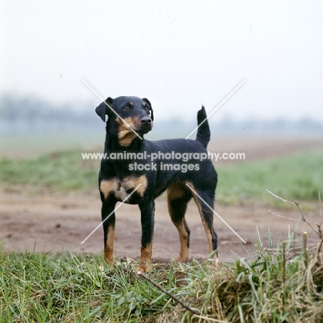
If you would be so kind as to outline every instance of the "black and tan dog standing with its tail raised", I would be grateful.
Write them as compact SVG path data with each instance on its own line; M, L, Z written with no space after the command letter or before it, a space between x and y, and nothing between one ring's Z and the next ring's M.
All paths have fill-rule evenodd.
M213 208L217 173L210 159L199 159L200 154L206 153L211 135L208 121L201 124L206 118L204 107L197 113L197 122L201 126L196 140L144 139L143 136L153 128L154 119L148 99L108 97L95 111L103 121L108 116L104 146L107 157L101 160L99 172L106 262L114 264L115 205L125 201L138 204L141 211L141 259L137 269L150 270L155 198L166 189L168 210L181 243L179 257L175 261L188 260L190 230L184 215L192 197L202 217L209 251L215 251L217 235L213 229L213 211L208 206Z

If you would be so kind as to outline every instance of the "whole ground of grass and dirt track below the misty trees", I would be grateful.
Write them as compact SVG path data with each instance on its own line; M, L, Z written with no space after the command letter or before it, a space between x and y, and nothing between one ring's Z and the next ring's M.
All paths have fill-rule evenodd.
M33 144L37 146L36 141ZM308 224L297 222L300 211L296 206L276 199L265 189L285 199L299 201L309 222L314 227L315 223L320 224L322 215L317 192L323 193L322 139L239 137L218 138L211 143L208 150L213 152L246 154L243 161L215 162L219 174L215 210L246 242L242 243L215 217L220 261L216 268L211 266L212 262L206 261L206 236L193 202L187 213L191 229L190 263L170 262L179 251L179 239L168 216L166 198L161 196L157 199L153 248L155 266L150 277L167 291L202 309L199 315L186 312L133 272L140 252L137 206L124 204L117 212L115 256L118 262L115 269L102 267L105 265L101 260L101 228L81 244L100 223L101 208L97 191L99 161L83 160L81 152L100 152L101 147L95 148L93 143L74 145L68 150L66 147L57 150L58 144L52 147L55 150L47 147L46 153L41 155L37 149L32 154L23 148L3 150L5 154L0 161L0 284L5 288L0 291L0 322L257 322L255 317L258 317L258 322L297 322L297 313L303 313L304 309L289 309L289 305L284 308L280 304L276 309L272 304L277 310L274 318L268 313L261 315L265 302L257 300L256 296L259 297L260 293L260 278L253 281L248 279L248 275L254 273L257 277L266 272L268 280L275 278L281 283L278 276L285 270L279 266L284 255L282 250L275 253L279 261L278 258L270 261L270 273L268 268L255 271L256 267L273 260L269 250L281 247L282 241L291 241L293 251L302 248L304 231L308 231L306 244L313 246L320 242ZM289 287L292 289L297 271L309 271L311 261L313 268L318 266L315 256L306 258L304 252L295 254L295 257L300 257L297 258L302 263L300 268L298 265L288 267L286 263L286 275L291 275ZM261 255L262 261L253 267L251 263L255 264L255 255ZM240 258L242 260L237 264ZM272 274L275 277L271 277ZM246 281L242 277L244 275ZM255 288L252 293L256 293L246 293L246 297L251 297L248 306L244 304L245 299L241 302L235 300L236 303L230 305L230 312L224 308L229 305L221 297L226 295L230 298L233 293L230 286L237 282L237 276L241 278L242 287L249 284ZM297 279L302 280L302 275ZM221 281L228 284L225 291L213 286ZM277 291L273 288L271 293L281 291L283 295L288 292L281 287ZM196 297L193 297L194 291ZM223 295L218 295L217 299L214 291ZM308 292L312 293L311 290ZM316 301L322 308L322 291L317 293ZM199 294L201 296L197 297ZM282 295L280 297L284 298ZM297 294L297 297L301 296ZM310 300L312 295L307 297L309 302L313 302ZM28 303L28 300L32 302ZM231 300L233 302L233 298ZM257 304L253 305L254 300ZM219 304L213 302L223 302L221 315L213 312L219 310ZM314 306L309 315L298 317L303 318L302 322L321 322L319 318L323 313L319 311L320 306ZM173 316L166 315L169 311L173 311ZM306 311L310 310L306 308Z

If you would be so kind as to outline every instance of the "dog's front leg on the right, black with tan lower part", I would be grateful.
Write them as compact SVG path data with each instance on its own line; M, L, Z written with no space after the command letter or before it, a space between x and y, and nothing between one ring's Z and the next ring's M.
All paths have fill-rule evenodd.
M143 199L139 203L141 211L141 257L137 271L150 271L153 254L155 223L155 201Z

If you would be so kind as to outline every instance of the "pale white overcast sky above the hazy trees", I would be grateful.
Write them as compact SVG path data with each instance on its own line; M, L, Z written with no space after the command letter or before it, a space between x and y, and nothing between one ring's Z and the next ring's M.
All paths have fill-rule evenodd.
M246 79L213 120L323 121L322 1L1 1L0 23L0 94L99 104L84 79L195 119Z

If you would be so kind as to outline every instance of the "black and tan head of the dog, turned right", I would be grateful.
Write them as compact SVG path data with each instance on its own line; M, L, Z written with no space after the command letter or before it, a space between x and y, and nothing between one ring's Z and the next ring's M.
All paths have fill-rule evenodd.
M136 133L144 135L153 128L153 108L146 98L117 97L112 99L108 97L106 101L97 106L95 112L104 122L107 115L107 123L117 126L121 146L128 146L137 136Z

